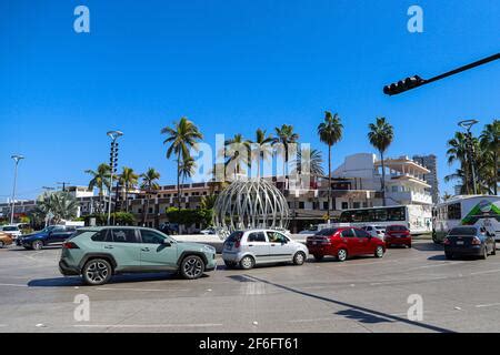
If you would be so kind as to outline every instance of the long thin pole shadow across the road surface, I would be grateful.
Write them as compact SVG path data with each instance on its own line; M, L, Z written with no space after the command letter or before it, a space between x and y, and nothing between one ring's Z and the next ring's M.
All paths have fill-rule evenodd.
M456 332L453 332L451 329L442 328L442 327L439 327L439 326L436 326L436 325L432 325L432 324L426 324L426 323L422 323L422 322L414 322L414 321L410 321L408 318L403 318L403 317L400 317L400 316L387 314L387 313L374 311L374 310L370 310L370 308L367 308L367 307L357 306L354 304L350 304L350 303L347 303L347 302L337 301L337 300L333 300L333 298L328 298L328 297L316 295L316 294L312 294L312 293L309 293L309 292L304 292L304 291L300 291L300 290L292 288L292 287L289 287L289 286L280 285L280 284L277 284L277 283L273 283L273 282L260 278L260 277L256 277L256 276L251 276L251 275L246 275L246 276L249 277L249 278L253 278L253 280L257 280L259 282L263 282L266 284L269 284L269 285L272 285L272 286L286 290L286 291L289 291L289 292L297 293L297 294L306 296L306 297L311 297L311 298L316 298L316 300L319 300L319 301L333 303L333 304L340 305L342 307L351 308L351 310L344 311L344 312L349 312L348 316L349 315L353 316L354 314L352 312L358 312L358 315L359 315L359 313L366 313L366 314L370 314L372 317L380 317L380 318L386 318L386 320L392 320L392 322L401 322L401 323L406 323L406 324L409 324L409 325L418 326L418 327L421 327L421 328L424 328L424 329L428 329L428 331L432 331L432 332L456 333ZM363 317L366 318L366 316L363 316Z

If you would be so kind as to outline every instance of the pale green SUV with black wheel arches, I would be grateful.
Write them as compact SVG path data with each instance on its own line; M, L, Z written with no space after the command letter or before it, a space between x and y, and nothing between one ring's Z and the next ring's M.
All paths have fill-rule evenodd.
M119 273L177 271L193 280L216 264L210 245L178 242L151 229L101 226L79 229L62 244L59 270L102 285Z

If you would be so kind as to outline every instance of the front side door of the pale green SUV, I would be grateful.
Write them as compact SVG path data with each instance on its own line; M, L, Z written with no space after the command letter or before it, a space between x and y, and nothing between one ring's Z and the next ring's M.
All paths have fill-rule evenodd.
M177 243L156 231L140 230L141 268L177 270ZM170 242L166 244L164 241Z

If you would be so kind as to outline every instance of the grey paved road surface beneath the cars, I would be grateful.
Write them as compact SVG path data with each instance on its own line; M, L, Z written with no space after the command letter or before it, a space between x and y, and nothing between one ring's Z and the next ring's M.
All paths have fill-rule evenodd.
M500 256L447 261L416 241L383 258L226 270L186 281L120 275L86 286L60 275L60 248L0 250L0 332L500 332ZM90 300L78 322L76 295ZM421 295L423 320L409 321Z

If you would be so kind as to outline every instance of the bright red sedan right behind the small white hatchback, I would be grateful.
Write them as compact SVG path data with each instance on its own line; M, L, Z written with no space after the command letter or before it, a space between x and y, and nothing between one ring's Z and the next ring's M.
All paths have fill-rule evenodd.
M348 256L372 254L382 257L386 243L372 237L368 232L354 227L326 229L309 236L306 241L309 253L317 261L324 255L333 255L343 262Z

